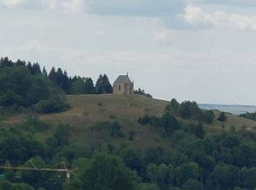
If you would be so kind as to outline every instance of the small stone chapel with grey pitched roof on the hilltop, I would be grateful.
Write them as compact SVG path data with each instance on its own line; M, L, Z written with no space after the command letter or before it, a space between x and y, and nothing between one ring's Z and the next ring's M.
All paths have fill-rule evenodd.
M134 82L127 75L119 75L113 83L113 94L133 94Z

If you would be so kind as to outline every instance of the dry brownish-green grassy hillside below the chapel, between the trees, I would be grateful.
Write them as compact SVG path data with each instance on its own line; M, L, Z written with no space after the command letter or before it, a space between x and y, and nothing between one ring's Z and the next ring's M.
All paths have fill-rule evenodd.
M45 132L37 133L37 137L45 140L53 134L59 123L69 123L71 126L71 142L89 146L108 145L130 145L134 148L149 148L162 146L168 148L171 146L170 140L154 133L148 126L140 126L138 118L145 115L162 115L169 102L150 99L145 96L120 96L113 94L104 95L72 95L67 96L71 108L64 113L55 113L39 115L39 119L49 123L52 127ZM217 118L218 112L215 112ZM26 119L26 114L10 116L1 122L2 127L10 127L22 123ZM124 138L113 138L104 132L94 132L92 126L105 121L117 120L124 132ZM180 121L181 118L179 118ZM193 122L193 121L183 121ZM211 131L222 129L222 122L214 120L214 124L207 126ZM239 118L234 115L227 115L225 129L235 126L240 129L241 126L247 126L247 129L256 129L256 122ZM135 132L135 139L129 140L129 132Z

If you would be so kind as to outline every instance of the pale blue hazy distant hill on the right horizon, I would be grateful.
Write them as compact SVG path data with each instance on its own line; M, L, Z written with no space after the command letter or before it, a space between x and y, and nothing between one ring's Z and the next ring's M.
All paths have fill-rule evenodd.
M242 113L255 113L256 106L254 105L229 105L229 104L198 104L201 109L219 110L222 112L240 115Z

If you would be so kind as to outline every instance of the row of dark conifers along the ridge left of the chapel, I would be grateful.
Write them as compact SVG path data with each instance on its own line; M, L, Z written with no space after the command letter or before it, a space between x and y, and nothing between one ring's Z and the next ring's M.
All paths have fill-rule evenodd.
M53 85L60 88L65 94L111 94L113 92L108 76L105 74L99 75L94 85L91 77L80 77L76 75L70 77L66 70L63 71L61 68L55 69L54 66L48 74L45 66L41 69L37 62L31 64L30 61L26 63L26 61L20 61L20 59L14 62L8 57L1 57L0 59L0 69L18 66L28 69L31 75L48 77Z

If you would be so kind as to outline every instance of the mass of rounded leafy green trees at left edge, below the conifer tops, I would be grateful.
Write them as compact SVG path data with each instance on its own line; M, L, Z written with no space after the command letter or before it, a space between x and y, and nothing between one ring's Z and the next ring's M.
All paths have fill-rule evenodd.
M8 58L0 60L0 106L12 112L37 107L42 113L67 108L62 92L43 75L39 64Z

